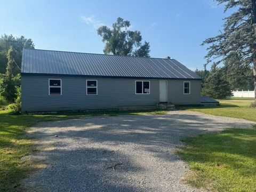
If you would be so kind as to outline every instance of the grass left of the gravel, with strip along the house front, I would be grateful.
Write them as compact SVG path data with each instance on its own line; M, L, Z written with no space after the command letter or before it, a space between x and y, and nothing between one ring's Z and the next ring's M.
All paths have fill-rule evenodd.
M36 169L34 162L22 160L22 157L36 150L33 138L28 138L26 135L28 127L36 122L81 116L137 114L166 114L166 111L102 111L49 115L11 115L9 110L0 110L0 191L15 190L19 186L20 180Z

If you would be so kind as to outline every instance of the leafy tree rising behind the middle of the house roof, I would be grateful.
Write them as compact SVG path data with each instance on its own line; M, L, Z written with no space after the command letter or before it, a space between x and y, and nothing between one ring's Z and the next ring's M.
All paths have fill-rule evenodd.
M102 37L102 42L106 43L103 50L105 54L149 57L149 43L144 42L142 44L140 31L128 30L130 26L130 21L117 18L112 28L107 26L98 28L98 35Z

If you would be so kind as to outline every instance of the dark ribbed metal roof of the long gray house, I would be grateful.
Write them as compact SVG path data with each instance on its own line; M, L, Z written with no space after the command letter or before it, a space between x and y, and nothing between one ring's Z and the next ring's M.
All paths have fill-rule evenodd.
M23 49L22 74L201 79L175 59Z

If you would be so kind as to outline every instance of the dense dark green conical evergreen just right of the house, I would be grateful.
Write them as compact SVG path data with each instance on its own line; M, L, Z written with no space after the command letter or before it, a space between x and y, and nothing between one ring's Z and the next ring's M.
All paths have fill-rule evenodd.
M226 81L223 71L213 65L202 89L202 94L214 99L225 99L233 96L231 86Z

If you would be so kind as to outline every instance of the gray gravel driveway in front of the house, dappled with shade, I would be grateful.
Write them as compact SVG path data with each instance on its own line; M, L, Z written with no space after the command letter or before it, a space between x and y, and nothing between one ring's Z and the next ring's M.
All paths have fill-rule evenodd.
M199 191L182 181L187 165L174 154L180 138L251 124L192 111L38 123L30 134L42 150L30 158L46 167L23 185L34 191Z

